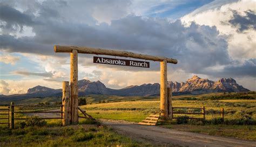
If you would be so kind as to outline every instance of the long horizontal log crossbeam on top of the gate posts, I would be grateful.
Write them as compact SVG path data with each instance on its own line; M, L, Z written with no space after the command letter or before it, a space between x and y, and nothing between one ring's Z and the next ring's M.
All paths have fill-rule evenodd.
M120 56L120 57L140 58L140 59L151 60L151 61L167 61L167 63L173 63L173 64L178 63L178 61L173 58L136 54L136 53L125 52L120 50L109 50L109 49L100 49L100 48L91 48L91 47L54 46L54 51L56 53L71 53L72 50L77 50L78 53L83 53L83 54L111 55L111 56Z

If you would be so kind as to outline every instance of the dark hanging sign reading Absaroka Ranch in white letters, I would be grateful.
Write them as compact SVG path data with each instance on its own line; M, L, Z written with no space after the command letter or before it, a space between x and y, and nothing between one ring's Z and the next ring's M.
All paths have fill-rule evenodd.
M150 68L150 63L145 61L125 60L120 58L107 58L98 56L93 57L93 63Z

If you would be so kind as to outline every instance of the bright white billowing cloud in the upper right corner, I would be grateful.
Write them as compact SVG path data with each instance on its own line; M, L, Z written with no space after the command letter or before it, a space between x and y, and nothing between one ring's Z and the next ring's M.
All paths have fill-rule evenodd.
M218 2L218 3L217 3ZM245 11L256 12L255 1L242 0L233 3L213 2L182 17L187 24L195 21L199 25L216 26L220 35L225 35L228 42L228 52L233 59L256 58L256 31L237 32L237 27L227 24L233 18L233 11L245 15Z

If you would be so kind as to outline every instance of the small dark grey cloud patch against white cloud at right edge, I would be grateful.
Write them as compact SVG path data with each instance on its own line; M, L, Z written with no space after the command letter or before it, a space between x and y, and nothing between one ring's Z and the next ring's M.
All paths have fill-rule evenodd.
M245 16L241 16L237 11L233 11L233 18L228 21L232 26L238 27L238 32L256 30L256 13L252 10L245 11L245 13Z

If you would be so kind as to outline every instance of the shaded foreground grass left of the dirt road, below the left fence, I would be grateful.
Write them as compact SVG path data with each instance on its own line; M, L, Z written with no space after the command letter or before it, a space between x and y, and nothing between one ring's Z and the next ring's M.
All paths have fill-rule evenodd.
M86 122L86 121L85 121ZM51 122L56 123L58 122ZM83 122L80 122L83 123ZM0 146L147 146L99 124L0 129Z

